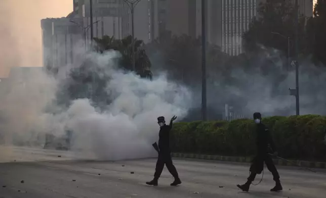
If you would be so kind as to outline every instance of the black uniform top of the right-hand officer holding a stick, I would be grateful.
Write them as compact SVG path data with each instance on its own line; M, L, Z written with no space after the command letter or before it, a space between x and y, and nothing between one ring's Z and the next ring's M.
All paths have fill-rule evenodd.
M270 134L270 131L264 124L261 123L257 125L256 133L256 145L258 155L276 152L276 146L274 144L273 138Z

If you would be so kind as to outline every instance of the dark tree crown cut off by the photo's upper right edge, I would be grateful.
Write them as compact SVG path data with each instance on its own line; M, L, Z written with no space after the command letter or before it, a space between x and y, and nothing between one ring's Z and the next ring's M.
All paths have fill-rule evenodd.
M318 0L315 4L313 17L307 22L308 53L312 54L316 64L326 66L326 1Z

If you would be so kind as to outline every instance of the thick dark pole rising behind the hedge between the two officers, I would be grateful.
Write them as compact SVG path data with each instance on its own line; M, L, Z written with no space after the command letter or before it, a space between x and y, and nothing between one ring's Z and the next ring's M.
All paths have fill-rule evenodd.
M206 0L201 0L201 118L207 121L206 98Z

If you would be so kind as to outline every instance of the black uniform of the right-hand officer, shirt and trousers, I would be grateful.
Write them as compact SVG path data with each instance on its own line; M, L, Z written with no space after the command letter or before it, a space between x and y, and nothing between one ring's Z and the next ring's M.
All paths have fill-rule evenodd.
M276 170L272 157L269 154L276 152L276 147L271 134L268 128L262 123L257 124L256 133L257 155L250 167L251 174L248 180L254 181L256 175L263 171L265 162L267 169L273 174L274 181L279 182L279 174Z

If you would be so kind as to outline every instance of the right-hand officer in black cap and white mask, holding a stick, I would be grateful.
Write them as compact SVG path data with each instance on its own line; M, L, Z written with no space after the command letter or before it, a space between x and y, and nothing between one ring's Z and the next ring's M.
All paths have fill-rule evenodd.
M248 181L243 185L237 186L243 191L249 191L250 184L255 180L256 175L261 174L263 171L265 162L267 169L273 174L273 179L276 182L275 187L270 189L270 191L280 191L282 190L282 185L270 154L270 152L273 152L273 155L277 156L275 144L268 128L262 123L262 116L260 113L254 113L254 121L256 123L257 132L257 155L250 167L250 176L248 177Z

